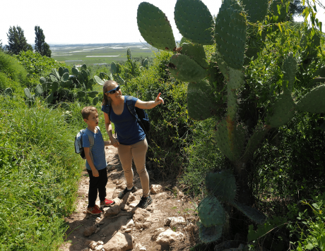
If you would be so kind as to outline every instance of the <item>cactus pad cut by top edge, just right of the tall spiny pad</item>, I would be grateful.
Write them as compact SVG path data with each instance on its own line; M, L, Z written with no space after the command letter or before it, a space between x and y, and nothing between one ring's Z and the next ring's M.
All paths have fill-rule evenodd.
M268 0L242 0L242 6L250 23L263 21L268 12Z

